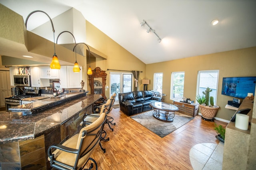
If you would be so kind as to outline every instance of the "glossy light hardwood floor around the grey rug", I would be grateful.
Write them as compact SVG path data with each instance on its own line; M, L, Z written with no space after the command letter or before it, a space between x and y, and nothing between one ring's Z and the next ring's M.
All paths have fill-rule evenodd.
M108 142L101 142L92 154L99 170L192 170L190 149L200 143L215 143L214 123L204 121L201 116L178 128L164 138L143 127L120 109L112 109L109 116L116 125L112 132L104 127ZM216 121L226 127L227 123Z

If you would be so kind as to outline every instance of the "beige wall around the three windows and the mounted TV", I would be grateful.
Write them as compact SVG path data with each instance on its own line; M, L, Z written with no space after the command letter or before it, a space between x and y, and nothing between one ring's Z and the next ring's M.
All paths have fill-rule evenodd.
M256 47L225 51L220 53L188 57L173 61L146 65L146 77L153 81L154 73L163 73L163 92L167 103L170 100L171 73L185 71L184 96L195 101L197 73L202 70L219 70L217 105L220 109L216 117L230 120L234 115L233 110L225 109L232 97L221 94L223 77L256 76ZM149 89L153 89L150 83Z

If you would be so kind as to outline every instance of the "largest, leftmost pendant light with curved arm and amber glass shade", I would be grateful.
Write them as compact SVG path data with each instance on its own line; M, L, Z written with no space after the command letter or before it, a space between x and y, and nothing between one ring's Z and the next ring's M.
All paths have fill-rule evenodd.
M34 14L35 12L42 12L44 14L46 14L46 12L44 11L40 11L40 10L36 10L36 11L33 11L31 12L30 14L28 14L27 18L26 18L26 22L25 22L25 26L27 27L27 23L28 23L28 18ZM53 23L52 23L52 19L50 18L50 16L48 14L46 14L48 16L48 18L50 19L50 22L52 24L52 32L53 32L53 43L54 43L54 54L52 56L52 62L50 64L50 68L51 69L60 69L60 63L59 63L59 60L58 60L58 57L55 53L55 37L54 37L54 33L55 33L55 30L54 30L54 27L53 27Z

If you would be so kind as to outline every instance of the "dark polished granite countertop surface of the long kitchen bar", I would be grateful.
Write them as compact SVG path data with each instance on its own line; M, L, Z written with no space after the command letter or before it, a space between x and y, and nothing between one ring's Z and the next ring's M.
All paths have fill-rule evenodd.
M36 138L59 127L100 98L101 95L87 95L66 102L60 99L61 104L26 116L22 112L0 112L0 143ZM47 99L34 102L33 107L42 102L47 103ZM26 108L29 104L20 106Z

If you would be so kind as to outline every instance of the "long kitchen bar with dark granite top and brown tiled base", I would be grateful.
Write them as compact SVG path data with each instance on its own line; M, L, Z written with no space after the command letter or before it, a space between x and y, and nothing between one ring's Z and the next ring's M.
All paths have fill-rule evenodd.
M16 111L40 108L31 115L0 112L1 168L51 170L47 159L49 146L61 144L80 132L83 116L91 114L94 103L102 99L101 95L84 94L50 97L15 108Z

